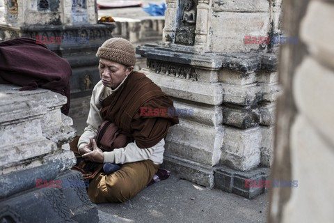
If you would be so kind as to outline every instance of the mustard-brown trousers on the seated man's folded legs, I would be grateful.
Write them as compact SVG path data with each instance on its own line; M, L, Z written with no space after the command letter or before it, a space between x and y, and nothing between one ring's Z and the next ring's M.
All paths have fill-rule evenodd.
M159 166L144 160L123 164L113 174L97 174L89 183L88 196L93 203L125 202L150 183Z

